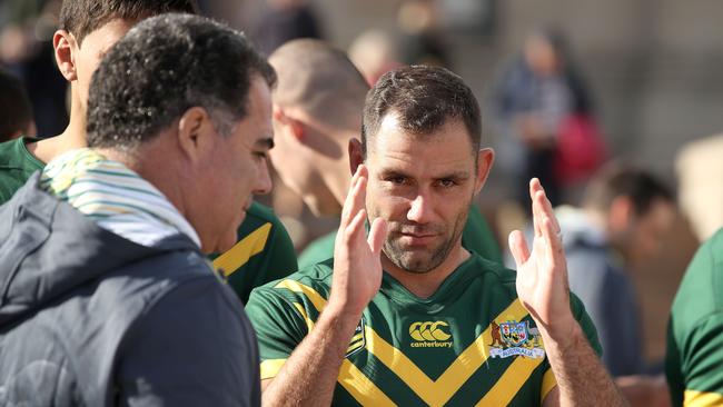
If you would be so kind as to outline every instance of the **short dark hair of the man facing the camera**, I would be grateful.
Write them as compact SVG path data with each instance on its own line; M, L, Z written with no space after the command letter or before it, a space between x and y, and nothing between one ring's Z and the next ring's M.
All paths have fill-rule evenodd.
M369 90L364 106L361 146L379 130L388 113L398 115L402 128L426 136L447 120L462 120L476 157L482 139L479 103L463 79L440 67L410 66L385 73Z

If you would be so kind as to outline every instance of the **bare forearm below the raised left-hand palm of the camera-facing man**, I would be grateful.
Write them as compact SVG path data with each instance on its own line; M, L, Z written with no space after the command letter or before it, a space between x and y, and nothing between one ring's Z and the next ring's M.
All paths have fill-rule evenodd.
M328 406L361 316L327 307L264 390L265 406Z

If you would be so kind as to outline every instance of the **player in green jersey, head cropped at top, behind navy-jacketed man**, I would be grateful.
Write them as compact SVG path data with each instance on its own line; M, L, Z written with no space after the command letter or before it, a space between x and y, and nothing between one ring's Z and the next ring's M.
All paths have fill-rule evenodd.
M86 147L86 105L92 72L101 57L139 20L162 12L194 12L195 2L139 0L66 0L61 29L53 38L56 61L70 82L70 123L62 135L38 140L19 138L0 143L0 205L52 158ZM239 210L241 210L239 208ZM241 301L258 285L296 271L296 252L286 229L260 204L247 211L239 242L217 259Z

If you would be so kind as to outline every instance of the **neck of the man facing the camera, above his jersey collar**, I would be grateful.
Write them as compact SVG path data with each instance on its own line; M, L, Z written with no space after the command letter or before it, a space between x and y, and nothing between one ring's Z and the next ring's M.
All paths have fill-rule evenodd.
M464 249L459 242L437 268L424 274L404 270L392 262L384 254L382 254L382 267L409 292L419 298L429 298L437 292L437 289L447 277L465 262L469 256L469 251Z

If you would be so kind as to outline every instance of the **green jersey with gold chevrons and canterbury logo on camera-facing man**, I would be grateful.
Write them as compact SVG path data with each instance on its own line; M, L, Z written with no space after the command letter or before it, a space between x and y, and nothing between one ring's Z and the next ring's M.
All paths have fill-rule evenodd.
M274 378L326 305L331 260L257 288L246 307ZM336 406L531 406L556 386L515 272L477 255L420 299L388 274L364 310L341 365ZM573 314L600 353L574 297Z

